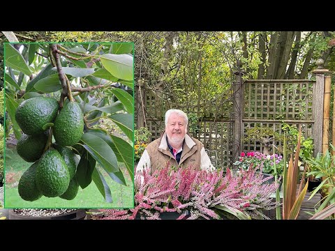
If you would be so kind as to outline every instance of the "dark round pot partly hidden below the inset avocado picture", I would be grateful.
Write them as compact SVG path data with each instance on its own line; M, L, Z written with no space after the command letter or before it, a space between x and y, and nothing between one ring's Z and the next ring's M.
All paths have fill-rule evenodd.
M8 213L8 220L84 220L86 216L85 209L78 209L75 211L71 211L69 213L63 213L61 215L50 215L50 216L26 216L20 215L14 211L14 209L10 209Z

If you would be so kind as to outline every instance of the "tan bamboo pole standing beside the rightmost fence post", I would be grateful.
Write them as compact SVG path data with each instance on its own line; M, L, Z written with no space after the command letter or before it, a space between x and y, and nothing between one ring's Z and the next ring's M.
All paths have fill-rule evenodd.
M322 133L322 153L323 154L327 152L328 145L329 145L329 111L330 111L331 82L332 82L331 77L325 76L325 91L324 91L324 100L323 100L323 133Z

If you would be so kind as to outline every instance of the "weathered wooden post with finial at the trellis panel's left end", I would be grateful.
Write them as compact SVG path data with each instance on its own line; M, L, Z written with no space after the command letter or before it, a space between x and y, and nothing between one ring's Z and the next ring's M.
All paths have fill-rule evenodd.
M241 70L241 61L237 61L237 70L234 71L235 81L233 82L233 136L234 143L232 144L232 161L235 162L239 158L239 154L242 151L243 142L241 142L244 135L244 124L243 124L243 79L245 71Z

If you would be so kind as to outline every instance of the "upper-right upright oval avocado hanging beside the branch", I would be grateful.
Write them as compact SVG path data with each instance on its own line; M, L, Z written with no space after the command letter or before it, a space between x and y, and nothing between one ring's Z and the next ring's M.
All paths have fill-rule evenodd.
M68 102L54 121L54 139L59 146L73 146L80 141L84 130L82 109L76 102Z

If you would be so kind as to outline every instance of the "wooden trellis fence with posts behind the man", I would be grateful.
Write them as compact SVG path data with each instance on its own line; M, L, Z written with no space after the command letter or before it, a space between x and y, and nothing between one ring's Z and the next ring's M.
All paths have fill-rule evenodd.
M322 119L325 74L328 70L314 71L316 81L309 79L244 80L241 71L231 89L214 100L198 97L198 105L176 104L163 93L151 90L144 82L137 82L135 96L135 123L146 126L151 140L161 136L164 115L168 109L182 109L197 119L189 124L191 135L204 147L215 151L219 167L227 167L237 160L241 151L262 151L262 145L245 141L249 128L272 128L282 133L282 123L299 125L305 137L313 137L314 153L322 151ZM202 101L204 100L204 101ZM188 130L190 132L190 130ZM281 142L276 142L281 146Z

